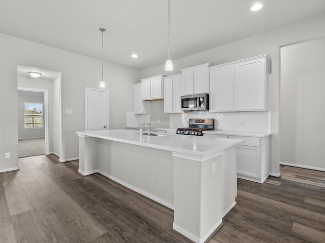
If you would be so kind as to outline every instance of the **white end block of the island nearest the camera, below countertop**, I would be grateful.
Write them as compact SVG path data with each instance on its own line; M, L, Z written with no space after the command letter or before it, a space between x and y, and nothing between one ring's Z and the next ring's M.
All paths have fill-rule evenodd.
M222 162L223 153L203 161L175 156L173 228L194 242L204 242L222 223Z

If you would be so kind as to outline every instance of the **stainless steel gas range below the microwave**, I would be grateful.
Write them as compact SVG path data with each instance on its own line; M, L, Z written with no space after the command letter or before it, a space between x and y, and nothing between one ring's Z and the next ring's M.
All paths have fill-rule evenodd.
M203 136L203 131L214 130L214 119L188 119L188 128L178 128L176 134Z

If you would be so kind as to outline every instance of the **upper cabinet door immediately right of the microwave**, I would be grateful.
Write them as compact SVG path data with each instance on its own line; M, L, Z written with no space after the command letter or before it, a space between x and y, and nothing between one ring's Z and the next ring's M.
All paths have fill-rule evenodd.
M234 109L234 66L210 70L210 111Z

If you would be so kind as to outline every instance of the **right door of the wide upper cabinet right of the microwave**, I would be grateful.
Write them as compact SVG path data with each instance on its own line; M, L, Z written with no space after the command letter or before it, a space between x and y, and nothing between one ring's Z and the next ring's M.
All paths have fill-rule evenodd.
M265 59L235 65L235 110L265 110Z

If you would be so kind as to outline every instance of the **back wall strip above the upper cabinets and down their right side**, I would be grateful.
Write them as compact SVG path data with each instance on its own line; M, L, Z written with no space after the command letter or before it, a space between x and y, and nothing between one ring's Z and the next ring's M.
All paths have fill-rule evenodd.
M165 64L161 64L142 70L141 78L157 74L172 75L180 73L182 68L207 62L217 65L268 53L272 58L269 86L270 110L272 111L270 171L273 175L279 175L280 47L325 35L324 23L325 15L320 15L185 58L173 60L173 53L171 53L174 71L165 71Z

